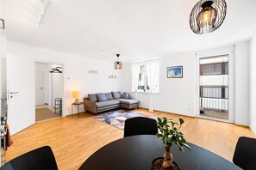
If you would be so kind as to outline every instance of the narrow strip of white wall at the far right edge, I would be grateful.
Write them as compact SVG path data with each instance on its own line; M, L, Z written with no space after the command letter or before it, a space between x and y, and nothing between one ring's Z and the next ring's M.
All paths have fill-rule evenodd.
M256 34L250 42L250 127L256 133Z

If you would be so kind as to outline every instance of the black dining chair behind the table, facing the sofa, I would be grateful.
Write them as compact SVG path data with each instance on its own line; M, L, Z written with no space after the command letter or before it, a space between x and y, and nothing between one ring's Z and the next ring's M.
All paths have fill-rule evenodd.
M158 132L156 120L153 118L128 118L124 123L124 137L135 135L155 135Z

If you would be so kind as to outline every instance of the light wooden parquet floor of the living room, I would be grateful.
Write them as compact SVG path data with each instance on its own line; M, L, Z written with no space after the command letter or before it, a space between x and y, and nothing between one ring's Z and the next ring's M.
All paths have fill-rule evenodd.
M229 161L232 160L238 137L256 137L249 128L235 124L166 112L148 112L145 109L134 111L175 120L184 118L182 132L187 141L209 149ZM15 143L7 150L5 159L9 161L29 150L49 145L60 170L78 169L97 149L123 137L122 130L93 117L92 114L83 113L79 117L74 115L36 123L12 137Z

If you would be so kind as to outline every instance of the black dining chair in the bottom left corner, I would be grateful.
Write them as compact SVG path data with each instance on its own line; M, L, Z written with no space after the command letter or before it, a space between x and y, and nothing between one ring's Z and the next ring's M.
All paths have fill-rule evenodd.
M34 149L7 162L0 170L58 170L49 146Z

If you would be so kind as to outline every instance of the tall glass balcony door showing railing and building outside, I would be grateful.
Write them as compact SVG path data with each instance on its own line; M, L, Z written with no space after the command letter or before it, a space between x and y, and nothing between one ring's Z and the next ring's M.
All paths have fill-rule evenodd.
M228 55L200 58L200 117L227 121Z

